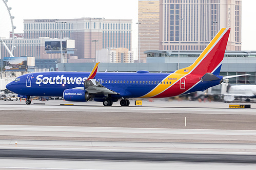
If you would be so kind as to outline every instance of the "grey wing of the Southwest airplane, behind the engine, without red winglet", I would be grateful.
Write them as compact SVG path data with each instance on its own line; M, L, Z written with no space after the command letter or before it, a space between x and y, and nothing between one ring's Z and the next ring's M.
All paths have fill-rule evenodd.
M104 94L118 94L117 92L108 89L101 83L97 82L95 79L90 79L85 81L84 90L89 93L104 93Z

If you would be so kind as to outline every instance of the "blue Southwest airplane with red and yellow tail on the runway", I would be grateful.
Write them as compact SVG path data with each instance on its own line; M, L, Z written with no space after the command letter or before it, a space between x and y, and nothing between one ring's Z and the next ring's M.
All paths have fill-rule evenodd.
M204 91L225 79L219 74L229 33L230 29L221 29L193 64L169 73L97 72L99 63L96 63L91 72L29 73L19 76L6 88L27 98L28 105L30 96L63 96L70 102L93 99L112 106L120 100L121 106L129 106L129 98L169 98Z

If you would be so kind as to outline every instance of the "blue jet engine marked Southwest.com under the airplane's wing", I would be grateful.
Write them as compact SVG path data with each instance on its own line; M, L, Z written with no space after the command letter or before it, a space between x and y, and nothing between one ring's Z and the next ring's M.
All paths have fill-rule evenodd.
M69 102L87 102L90 99L86 90L74 88L64 90L63 98Z

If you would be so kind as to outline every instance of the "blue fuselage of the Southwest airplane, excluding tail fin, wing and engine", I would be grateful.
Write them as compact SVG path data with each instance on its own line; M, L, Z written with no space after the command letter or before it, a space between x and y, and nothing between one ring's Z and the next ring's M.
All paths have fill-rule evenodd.
M6 88L17 94L27 96L63 96L63 92L66 89L83 88L84 81L88 78L89 74L90 72L33 72L18 77L15 81L9 83ZM118 93L111 94L112 98L117 99L144 97L144 95L152 90L157 91L157 89L160 89L159 94L161 93L161 95L146 95L145 97L171 97L205 90L211 86L220 84L220 80L222 79L219 76L220 80L201 82L200 77L187 75L187 85L185 85L185 81L182 85L177 80L173 84L174 80L173 82L171 81L172 78L169 78L170 75L171 73L149 73L143 71L141 73L97 72L94 79L106 88ZM168 82L165 82L167 77ZM159 86L160 84L163 87ZM177 93L178 91L180 92Z

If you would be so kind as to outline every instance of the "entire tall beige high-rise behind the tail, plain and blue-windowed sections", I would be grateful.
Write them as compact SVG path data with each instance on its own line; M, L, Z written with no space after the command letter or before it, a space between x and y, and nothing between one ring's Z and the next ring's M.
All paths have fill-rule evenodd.
M139 0L142 62L147 50L202 51L221 28L231 28L227 50L241 51L241 6L242 0Z

